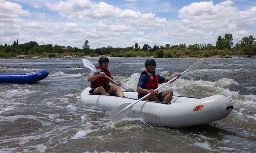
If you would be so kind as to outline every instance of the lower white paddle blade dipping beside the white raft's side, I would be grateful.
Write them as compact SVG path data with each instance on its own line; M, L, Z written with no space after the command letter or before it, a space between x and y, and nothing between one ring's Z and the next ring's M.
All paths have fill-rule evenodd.
M130 103L124 103L110 111L110 119L112 122L116 122L126 117L132 109L132 106L125 109Z

